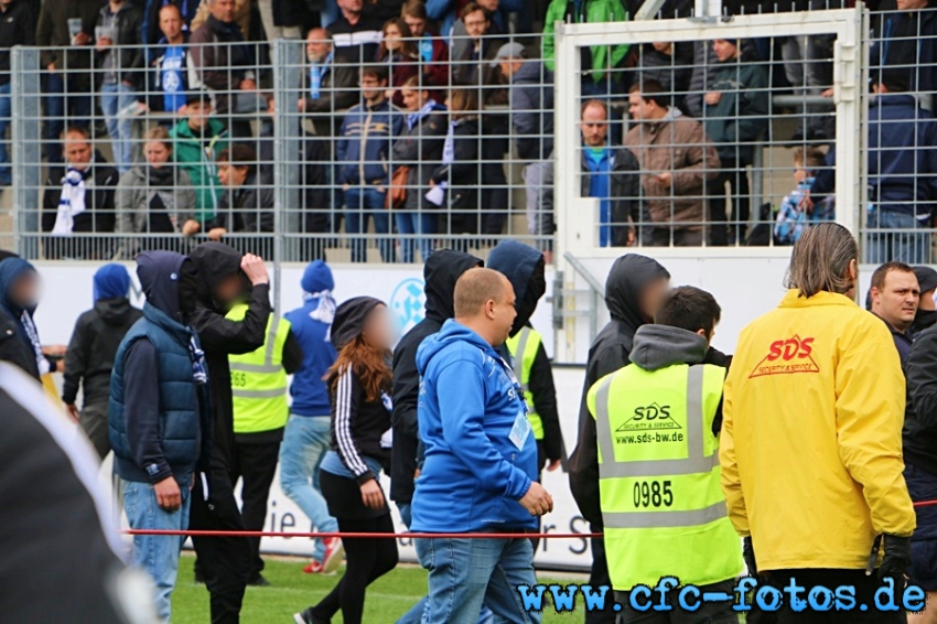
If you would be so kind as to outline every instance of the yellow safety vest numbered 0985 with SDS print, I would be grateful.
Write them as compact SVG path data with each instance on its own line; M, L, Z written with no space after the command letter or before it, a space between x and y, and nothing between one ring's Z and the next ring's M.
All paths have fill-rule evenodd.
M712 433L724 377L712 365L648 372L632 364L589 390L615 590L670 575L710 584L742 572Z

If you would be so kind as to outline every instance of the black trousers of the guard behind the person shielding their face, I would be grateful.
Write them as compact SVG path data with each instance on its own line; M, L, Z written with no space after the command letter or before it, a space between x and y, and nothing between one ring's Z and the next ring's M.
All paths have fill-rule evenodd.
M263 530L267 499L270 497L270 485L277 473L279 456L280 442L235 444L231 480L234 483L237 483L238 478L244 480L240 491L240 517L247 530ZM250 545L250 571L247 580L251 582L263 570L263 559L260 558L260 538L248 537L246 541Z

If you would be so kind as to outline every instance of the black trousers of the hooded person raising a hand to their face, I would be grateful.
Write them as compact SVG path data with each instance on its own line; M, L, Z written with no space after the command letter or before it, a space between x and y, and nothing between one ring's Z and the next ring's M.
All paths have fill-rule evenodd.
M203 477L208 480L207 501ZM189 528L244 530L234 478L227 470L213 466L211 475L195 475ZM212 624L238 624L250 570L250 545L243 537L193 537L192 542L212 596Z

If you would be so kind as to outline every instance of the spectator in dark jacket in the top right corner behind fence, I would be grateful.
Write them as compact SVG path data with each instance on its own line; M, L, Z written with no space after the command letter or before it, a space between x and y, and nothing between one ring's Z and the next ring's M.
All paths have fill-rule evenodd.
M881 41L869 53L873 68L907 74L907 92L920 107L935 112L937 92L937 2L897 0L897 11L884 13Z

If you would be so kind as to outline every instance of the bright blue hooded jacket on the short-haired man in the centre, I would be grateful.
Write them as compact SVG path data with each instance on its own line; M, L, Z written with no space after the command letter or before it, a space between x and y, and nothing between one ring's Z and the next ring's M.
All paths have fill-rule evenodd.
M413 531L532 529L518 501L537 478L537 442L509 434L526 417L520 386L478 334L449 320L417 351L418 419L426 462L413 494Z

